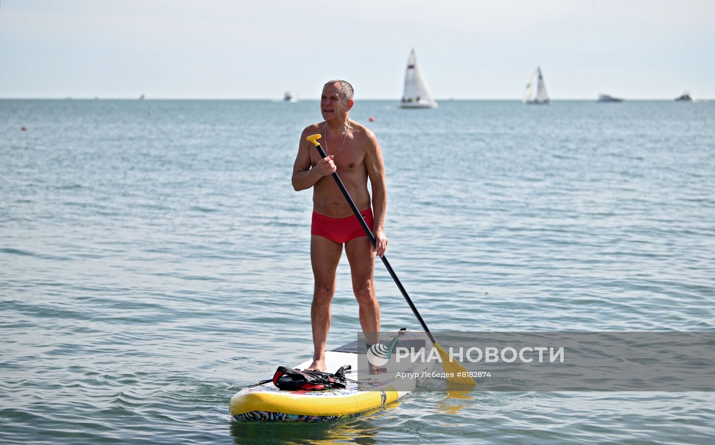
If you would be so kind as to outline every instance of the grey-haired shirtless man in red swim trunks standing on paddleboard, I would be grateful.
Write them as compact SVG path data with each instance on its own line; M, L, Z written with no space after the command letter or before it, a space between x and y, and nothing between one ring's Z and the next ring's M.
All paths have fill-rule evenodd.
M372 131L350 120L352 85L343 80L327 82L322 89L320 112L325 119L303 130L298 154L293 164L292 184L296 191L313 189L313 213L310 228L310 261L315 290L310 309L312 322L313 362L307 369L325 371L325 343L330 329L330 301L335 294L335 271L345 254L350 263L352 291L360 306L360 325L370 344L379 341L380 305L375 296L375 253L383 256L388 246L385 237L385 164L380 144ZM305 138L322 135L322 146L328 155L321 158ZM376 245L363 231L357 216L330 175L337 171L345 188L360 209L375 235ZM373 192L370 198L368 179ZM385 369L371 369L384 372Z

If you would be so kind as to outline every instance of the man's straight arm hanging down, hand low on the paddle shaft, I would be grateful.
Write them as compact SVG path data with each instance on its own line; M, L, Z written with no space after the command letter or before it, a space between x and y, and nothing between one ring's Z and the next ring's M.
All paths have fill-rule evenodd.
M373 234L375 235L375 251L383 256L388 248L388 238L385 236L385 211L388 208L388 190L385 186L385 161L380 149L378 138L368 130L368 149L365 152L365 167L373 188Z

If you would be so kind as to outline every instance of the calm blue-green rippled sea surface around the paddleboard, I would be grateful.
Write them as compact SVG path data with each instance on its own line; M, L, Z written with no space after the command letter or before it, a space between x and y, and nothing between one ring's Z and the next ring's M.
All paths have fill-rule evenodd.
M715 102L351 117L383 147L388 257L434 331L715 329ZM318 120L317 101L0 101L0 442L712 443L698 392L233 423L232 394L312 354L311 191L290 176ZM383 330L418 330L376 280ZM352 341L345 258L332 313L328 346Z

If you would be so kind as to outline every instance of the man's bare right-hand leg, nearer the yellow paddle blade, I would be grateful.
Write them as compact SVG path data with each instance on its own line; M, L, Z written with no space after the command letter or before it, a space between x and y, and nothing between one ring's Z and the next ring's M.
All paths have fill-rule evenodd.
M380 305L375 296L375 252L367 236L351 239L345 243L345 254L350 261L352 291L360 305L360 326L363 326L365 341L375 344L380 341ZM374 373L385 369L372 369Z

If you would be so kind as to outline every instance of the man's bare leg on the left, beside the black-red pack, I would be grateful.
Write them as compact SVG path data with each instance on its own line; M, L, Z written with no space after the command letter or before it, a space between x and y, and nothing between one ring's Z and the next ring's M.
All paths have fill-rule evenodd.
M313 333L313 362L307 369L325 371L325 343L330 329L330 301L335 295L335 269L342 255L342 244L323 236L310 236L310 262L315 289L310 306Z

